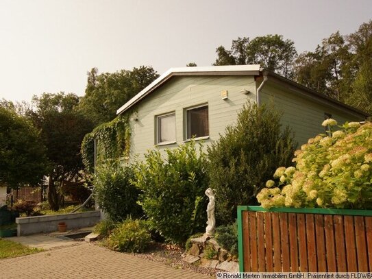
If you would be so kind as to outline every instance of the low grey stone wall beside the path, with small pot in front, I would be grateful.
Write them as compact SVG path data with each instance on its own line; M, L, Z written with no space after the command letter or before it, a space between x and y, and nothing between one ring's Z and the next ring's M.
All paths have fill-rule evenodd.
M38 232L54 232L58 230L58 223L65 222L67 230L94 226L99 222L99 211L84 213L69 213L59 215L45 215L16 218L17 235L36 234Z

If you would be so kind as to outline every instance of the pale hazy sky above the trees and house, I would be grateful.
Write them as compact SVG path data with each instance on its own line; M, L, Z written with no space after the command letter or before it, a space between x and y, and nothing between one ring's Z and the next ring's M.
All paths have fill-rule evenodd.
M313 51L371 19L371 0L0 0L0 99L83 96L93 67L210 66L239 36L280 34Z

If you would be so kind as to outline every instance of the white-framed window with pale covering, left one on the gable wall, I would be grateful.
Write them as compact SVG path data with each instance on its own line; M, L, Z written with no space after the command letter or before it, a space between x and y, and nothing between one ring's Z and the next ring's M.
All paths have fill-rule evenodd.
M175 143L175 112L156 117L156 144Z

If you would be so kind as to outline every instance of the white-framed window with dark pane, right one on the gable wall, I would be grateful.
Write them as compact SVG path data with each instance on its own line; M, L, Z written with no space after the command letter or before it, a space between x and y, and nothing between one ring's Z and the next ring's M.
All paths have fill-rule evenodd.
M186 108L186 140L209 136L208 105Z

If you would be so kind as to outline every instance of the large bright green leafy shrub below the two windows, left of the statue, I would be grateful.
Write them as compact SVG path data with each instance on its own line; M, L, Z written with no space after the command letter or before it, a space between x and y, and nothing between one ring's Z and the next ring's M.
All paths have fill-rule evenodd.
M134 184L142 191L140 205L151 228L173 243L184 244L188 236L206 226L208 187L206 155L191 141L177 149L149 151L136 165Z

